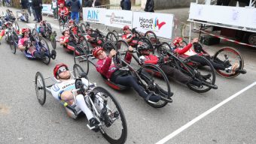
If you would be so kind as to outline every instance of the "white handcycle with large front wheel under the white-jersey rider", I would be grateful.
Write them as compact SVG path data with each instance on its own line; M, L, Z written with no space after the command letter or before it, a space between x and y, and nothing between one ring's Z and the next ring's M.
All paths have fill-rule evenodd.
M87 127L90 130L95 128L99 130L111 144L123 144L127 137L126 118L114 96L102 87L96 86L95 83L90 83L87 74L78 64L73 66L72 77L75 79L75 89L72 90L74 99L76 98L74 93L81 92L93 117L99 121L97 127L90 127L89 124ZM88 80L86 85L83 83L85 79ZM49 84L46 83L47 81L50 81ZM35 74L35 92L42 106L45 104L47 93L51 94L50 89L55 83L59 82L54 77L44 78L39 71ZM83 114L79 107L76 107L76 99L74 106L70 106L66 101L60 101L60 104L70 111L72 118L77 119Z

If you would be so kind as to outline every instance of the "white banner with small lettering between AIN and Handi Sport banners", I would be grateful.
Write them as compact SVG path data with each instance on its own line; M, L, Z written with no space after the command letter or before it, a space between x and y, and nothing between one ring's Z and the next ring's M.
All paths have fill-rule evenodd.
M133 26L133 11L131 10L105 10L105 26L123 28L123 26Z

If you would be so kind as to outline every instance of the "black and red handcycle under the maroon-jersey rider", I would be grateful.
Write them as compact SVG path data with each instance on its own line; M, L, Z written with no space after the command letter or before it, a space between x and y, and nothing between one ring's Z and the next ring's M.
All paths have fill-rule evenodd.
M172 92L169 86L169 81L166 75L163 73L163 71L160 70L160 68L151 64L139 65L139 68L135 68L124 60L123 52L121 52L120 49L117 49L114 43L112 43L111 41L106 41L103 45L103 49L105 49L105 51L109 51L111 50L110 48L114 48L117 50L117 55L114 56L113 62L114 65L116 65L116 67L120 69L120 71L128 71L128 73L136 77L137 82L139 83L140 86L142 86L145 92L153 93L154 95L159 95L161 97L161 100L155 103L146 101L151 107L165 107L166 104L168 104L168 102L163 101L163 99L169 99L172 101L172 99L170 98L172 96ZM95 65L94 60L96 58L94 58L92 54L79 56L77 58L77 62L79 62L79 64L81 65L84 65L86 71L89 71L89 62ZM134 54L133 58L139 64L139 58L137 58L136 55ZM154 73L152 72L152 70L154 70L154 73L157 73L160 77L163 77L163 79L156 79L156 77L154 77ZM129 89L127 86L122 86L120 84L111 82L111 80L108 80L104 76L102 76L102 78L105 81L105 83L112 89Z

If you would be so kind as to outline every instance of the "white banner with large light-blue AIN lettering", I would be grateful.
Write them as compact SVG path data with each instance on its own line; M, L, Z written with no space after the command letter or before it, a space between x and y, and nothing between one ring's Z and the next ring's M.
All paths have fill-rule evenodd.
M83 7L83 20L90 23L105 24L105 8Z

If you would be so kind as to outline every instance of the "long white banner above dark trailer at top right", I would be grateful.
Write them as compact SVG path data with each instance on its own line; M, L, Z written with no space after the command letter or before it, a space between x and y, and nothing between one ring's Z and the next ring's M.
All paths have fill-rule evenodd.
M255 8L190 4L190 20L256 28Z

